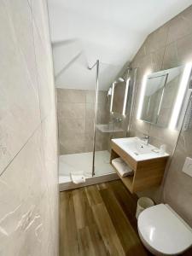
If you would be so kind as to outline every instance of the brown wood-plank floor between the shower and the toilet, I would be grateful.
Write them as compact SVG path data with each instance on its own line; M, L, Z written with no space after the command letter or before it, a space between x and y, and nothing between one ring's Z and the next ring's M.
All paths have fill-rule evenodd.
M137 197L113 181L60 193L60 256L151 255L137 235Z

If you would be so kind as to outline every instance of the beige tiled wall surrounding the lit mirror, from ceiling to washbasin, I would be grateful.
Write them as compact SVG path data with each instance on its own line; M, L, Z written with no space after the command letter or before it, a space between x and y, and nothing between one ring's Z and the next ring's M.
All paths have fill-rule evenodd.
M141 47L142 49L139 49L137 55L131 61L132 67L138 67L136 105L131 122L131 134L139 134L142 131L144 133L147 132L151 140L155 139L154 141L158 141L160 144L167 143L168 139L167 147L170 148L171 152L177 142L177 132L173 133L168 129L157 128L154 125L148 125L143 121L137 120L137 108L143 84L143 75L148 70L155 72L160 69L177 67L186 63L186 61L192 61L190 45L192 32L191 28L189 29L189 26L191 27L191 14L192 7L190 6L183 13L148 35ZM177 27L180 26L184 27L182 35L177 34L179 33L177 32ZM145 54L140 55L141 51Z

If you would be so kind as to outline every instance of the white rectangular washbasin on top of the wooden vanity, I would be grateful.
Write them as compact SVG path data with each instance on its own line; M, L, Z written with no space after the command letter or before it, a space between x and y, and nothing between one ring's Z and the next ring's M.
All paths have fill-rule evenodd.
M122 148L137 161L169 156L169 154L160 153L160 149L155 148L153 145L146 145L143 140L138 137L117 138L112 139L112 142L117 144L119 148Z

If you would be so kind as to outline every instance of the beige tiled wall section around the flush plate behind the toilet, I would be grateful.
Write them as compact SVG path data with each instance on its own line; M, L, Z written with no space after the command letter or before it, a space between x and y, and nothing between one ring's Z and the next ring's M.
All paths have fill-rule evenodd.
M192 119L192 116L190 116ZM167 172L164 199L192 226L192 177L182 172L186 157L192 158L192 126L179 136L172 163Z

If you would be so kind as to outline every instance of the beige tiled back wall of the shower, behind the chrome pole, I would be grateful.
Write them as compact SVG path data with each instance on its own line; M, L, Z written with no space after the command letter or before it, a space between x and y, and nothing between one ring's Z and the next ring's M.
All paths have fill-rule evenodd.
M93 150L95 90L57 89L60 154ZM107 91L98 93L97 123L108 123ZM96 150L108 148L108 133L96 131Z

